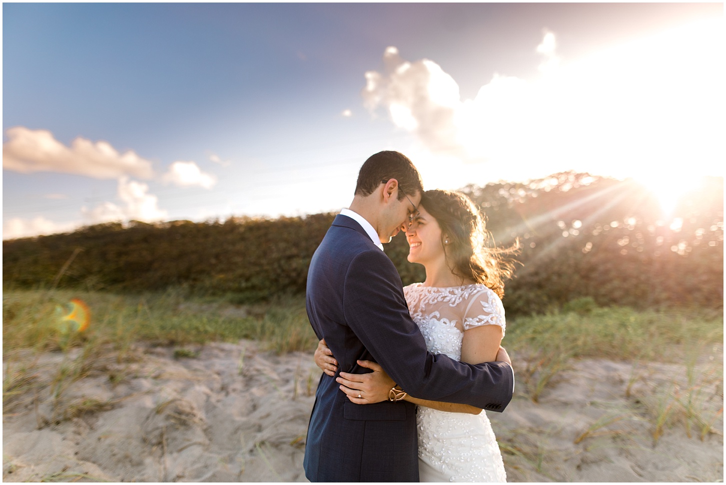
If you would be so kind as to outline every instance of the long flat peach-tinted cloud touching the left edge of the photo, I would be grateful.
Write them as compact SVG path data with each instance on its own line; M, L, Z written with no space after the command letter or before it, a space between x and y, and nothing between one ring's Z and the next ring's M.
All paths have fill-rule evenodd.
M78 137L69 146L57 141L48 130L15 126L6 131L3 168L20 173L60 172L92 178L132 175L151 178L151 162L131 150L119 153L107 141L92 142Z

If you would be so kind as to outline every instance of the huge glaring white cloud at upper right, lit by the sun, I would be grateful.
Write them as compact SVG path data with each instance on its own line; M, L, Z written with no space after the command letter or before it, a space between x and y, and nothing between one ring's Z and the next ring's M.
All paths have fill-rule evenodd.
M439 159L488 180L560 170L637 176L689 160L713 172L726 155L723 39L722 22L701 22L566 62L546 32L539 78L495 74L474 99L461 99L436 62L409 62L389 47L385 70L365 73L362 98Z

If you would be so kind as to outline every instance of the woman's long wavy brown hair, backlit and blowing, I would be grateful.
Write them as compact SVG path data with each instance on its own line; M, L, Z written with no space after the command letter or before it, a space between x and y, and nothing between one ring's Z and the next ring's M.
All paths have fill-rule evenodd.
M512 278L516 262L506 255L518 252L519 241L509 248L489 247L484 215L460 192L425 191L421 205L439 223L446 265L452 273L484 284L499 298L504 297L504 280Z

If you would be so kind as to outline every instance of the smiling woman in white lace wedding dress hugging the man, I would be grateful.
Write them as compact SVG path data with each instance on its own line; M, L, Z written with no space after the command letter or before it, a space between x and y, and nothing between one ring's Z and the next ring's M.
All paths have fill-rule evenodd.
M423 194L420 212L406 232L409 262L426 270L423 283L404 288L411 317L428 350L470 364L496 360L505 334L503 278L511 262L501 255L513 249L488 249L480 212L464 194L432 190ZM320 341L315 362L329 376L337 361ZM337 381L348 399L366 394L365 402L388 399L396 386L375 362L359 361L374 370L367 381L340 373ZM372 376L372 377L371 377ZM405 389L403 389L405 391ZM418 405L420 481L507 481L497 439L486 412L477 407L407 396Z

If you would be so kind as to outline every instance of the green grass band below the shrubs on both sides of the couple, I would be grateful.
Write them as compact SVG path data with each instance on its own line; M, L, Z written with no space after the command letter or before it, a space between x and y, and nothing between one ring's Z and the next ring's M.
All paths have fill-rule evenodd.
M64 331L59 326L59 315L71 299L81 299L89 308L91 321L84 331ZM140 341L172 346L178 358L195 357L197 351L189 347L208 341L251 339L277 354L307 352L316 347L303 297L278 297L258 304L233 301L190 297L183 291L142 295L4 291L3 352L8 357L17 349L57 351L76 347L90 357L100 348L113 347L123 360ZM627 307L600 308L590 301L571 302L565 308L569 311L507 322L502 344L517 360L518 380L535 402L542 390L579 357L634 362L628 393L643 377L638 374L637 362L688 364L688 385L696 389L698 362L721 358L720 312L639 312ZM82 366L73 370L77 374L82 371ZM6 378L4 390L12 392L22 387L26 377L16 369Z

